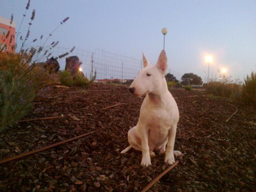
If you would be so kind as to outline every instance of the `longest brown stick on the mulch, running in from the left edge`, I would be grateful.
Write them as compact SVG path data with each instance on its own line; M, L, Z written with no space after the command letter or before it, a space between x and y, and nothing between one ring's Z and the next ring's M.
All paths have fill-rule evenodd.
M49 148L56 147L56 146L58 146L58 145L61 145L61 144L64 144L64 143L67 143L67 142L70 142L70 141L79 139L79 138L81 138L81 137L87 136L87 135L89 135L89 134L92 134L93 132L94 132L94 131L90 131L90 132L88 132L88 133L86 133L86 134L82 134L82 135L79 135L79 136L77 136L77 137L70 138L70 139L68 139L68 140L60 141L60 142L58 142L58 143L54 143L54 144L48 145L48 146L46 146L46 147L38 148L38 149L36 149L36 150L29 151L29 152L26 152L26 153L23 153L23 154L19 154L19 155L14 156L14 157L9 157L9 158L7 158L7 159L0 160L0 164L9 162L9 161L12 161L12 160L15 160L15 159L19 159L19 158L21 158L21 157L25 157L25 156L28 156L28 155L31 155L31 154L35 154L35 153L38 153L38 152L40 152L40 151L47 150L47 149L49 149Z

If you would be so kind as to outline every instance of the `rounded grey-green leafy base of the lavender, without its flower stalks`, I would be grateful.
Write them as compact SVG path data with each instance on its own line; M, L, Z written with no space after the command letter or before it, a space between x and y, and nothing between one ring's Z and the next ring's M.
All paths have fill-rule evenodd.
M32 106L35 89L32 81L0 70L0 130L20 120Z

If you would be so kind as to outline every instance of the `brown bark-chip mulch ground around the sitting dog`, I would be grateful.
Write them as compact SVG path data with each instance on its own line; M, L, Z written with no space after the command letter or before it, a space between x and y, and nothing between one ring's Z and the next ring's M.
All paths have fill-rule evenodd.
M107 90L107 91L87 91ZM170 90L180 121L175 150L179 163L150 191L256 191L256 109L204 92ZM0 191L140 191L168 166L156 152L152 166L128 146L143 98L125 86L51 87L37 96L23 122L0 133L0 159L95 131L70 143L0 165ZM111 105L123 103L102 110ZM228 122L226 120L236 111Z

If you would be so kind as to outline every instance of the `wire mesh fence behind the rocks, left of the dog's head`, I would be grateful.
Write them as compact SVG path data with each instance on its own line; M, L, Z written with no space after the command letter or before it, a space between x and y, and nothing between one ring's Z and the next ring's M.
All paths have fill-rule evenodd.
M65 52L69 52L70 48L55 47L51 50L52 56L57 57ZM127 80L134 79L142 68L142 60L118 55L102 49L87 51L82 49L74 49L69 56L78 56L82 62L81 68L85 76L90 77L96 71L96 79L118 79ZM58 59L61 69L65 68L66 58Z

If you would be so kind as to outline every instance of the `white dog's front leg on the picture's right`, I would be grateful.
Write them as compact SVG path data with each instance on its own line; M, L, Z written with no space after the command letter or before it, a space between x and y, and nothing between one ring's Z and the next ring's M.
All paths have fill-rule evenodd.
M173 149L174 149L174 143L175 143L176 129L177 129L177 125L173 125L168 132L168 143L166 145L166 156L165 156L164 162L170 165L175 162Z

